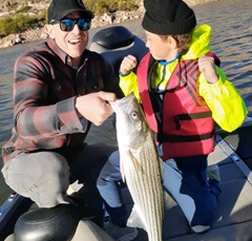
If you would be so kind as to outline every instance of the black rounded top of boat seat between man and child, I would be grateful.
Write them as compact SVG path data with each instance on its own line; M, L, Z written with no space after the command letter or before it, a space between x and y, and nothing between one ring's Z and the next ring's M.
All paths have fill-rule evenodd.
M133 34L127 28L114 26L97 32L92 41L106 49L117 49L130 45L133 39Z

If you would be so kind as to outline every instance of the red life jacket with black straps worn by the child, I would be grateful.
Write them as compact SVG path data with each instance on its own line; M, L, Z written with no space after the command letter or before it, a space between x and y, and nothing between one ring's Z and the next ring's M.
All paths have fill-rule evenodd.
M137 79L146 119L162 143L163 160L209 154L214 149L214 121L197 93L198 61L179 62L161 101L160 93L150 87L154 65L155 60L146 54L138 67Z

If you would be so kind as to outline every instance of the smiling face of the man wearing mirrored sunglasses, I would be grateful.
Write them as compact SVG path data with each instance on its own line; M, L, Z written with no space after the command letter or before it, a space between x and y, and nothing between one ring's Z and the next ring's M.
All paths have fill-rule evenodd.
M79 12L72 12L64 18L79 19L81 17L83 16ZM62 31L59 23L48 25L47 32L50 38L55 40L58 47L73 60L79 59L87 47L88 31L81 31L77 24L69 32Z

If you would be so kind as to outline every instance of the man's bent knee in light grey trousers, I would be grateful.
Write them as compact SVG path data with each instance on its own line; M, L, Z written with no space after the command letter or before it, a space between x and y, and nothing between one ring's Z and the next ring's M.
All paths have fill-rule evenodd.
M39 207L68 203L69 168L65 158L53 152L21 154L4 169L6 183Z

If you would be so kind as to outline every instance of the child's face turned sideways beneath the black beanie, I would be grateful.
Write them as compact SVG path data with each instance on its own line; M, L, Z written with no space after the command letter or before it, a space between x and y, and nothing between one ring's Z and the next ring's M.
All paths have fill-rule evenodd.
M178 53L176 41L171 36L161 37L160 35L148 32L146 34L146 47L156 60L171 60Z

